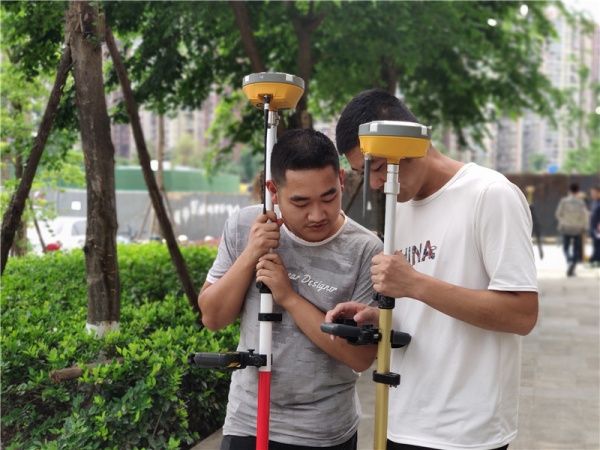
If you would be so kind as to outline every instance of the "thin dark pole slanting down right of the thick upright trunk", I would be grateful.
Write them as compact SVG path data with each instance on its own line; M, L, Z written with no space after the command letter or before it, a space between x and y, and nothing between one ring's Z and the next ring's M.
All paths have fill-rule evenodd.
M173 234L173 228L171 227L171 222L167 216L158 184L156 183L156 179L152 173L152 168L150 167L150 155L148 154L148 149L146 148L146 141L144 139L144 133L140 124L140 117L138 114L137 105L135 104L135 99L133 97L133 91L131 90L131 83L127 77L125 66L123 65L123 61L121 60L115 39L110 29L106 30L106 44L115 65L115 70L117 71L119 81L121 82L121 88L123 89L123 98L125 99L125 106L131 119L133 137L137 146L138 157L144 173L144 179L146 181L146 185L148 186L148 193L150 194L150 199L152 200L152 206L154 207L154 211L156 212L160 226L165 235L167 247L169 248L169 253L171 254L171 260L173 261L173 265L175 266L175 270L177 271L177 275L179 276L179 280L181 281L188 302L192 307L192 310L198 313L200 320L201 316L200 308L198 307L198 293L194 288L194 283L192 282L192 279L187 271L183 255L179 250L177 240Z

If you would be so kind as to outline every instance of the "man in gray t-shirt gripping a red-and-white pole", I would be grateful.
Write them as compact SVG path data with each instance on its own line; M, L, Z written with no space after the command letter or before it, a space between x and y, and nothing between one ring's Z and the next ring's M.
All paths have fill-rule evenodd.
M273 325L269 448L356 449L357 372L377 347L331 340L320 325L338 303L373 304L369 268L382 243L341 211L343 171L322 133L281 136L271 172L267 188L281 216L251 206L227 221L198 299L203 322L218 330L239 316L238 349L258 348L255 284L265 283L273 312L283 313ZM256 368L233 373L222 450L255 448L257 380Z

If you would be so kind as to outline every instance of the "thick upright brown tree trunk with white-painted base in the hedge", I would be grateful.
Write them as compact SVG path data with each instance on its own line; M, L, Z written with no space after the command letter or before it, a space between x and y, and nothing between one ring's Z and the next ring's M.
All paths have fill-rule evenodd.
M117 263L115 150L102 76L103 16L92 2L72 0L66 32L73 52L73 76L87 183L85 267L86 327L102 337L119 328L121 287Z

